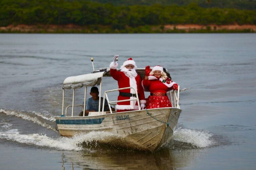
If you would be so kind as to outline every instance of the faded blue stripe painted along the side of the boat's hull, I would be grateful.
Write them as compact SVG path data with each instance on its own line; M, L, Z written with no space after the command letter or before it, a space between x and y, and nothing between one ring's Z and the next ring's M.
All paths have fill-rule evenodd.
M57 119L57 124L69 124L69 125L94 125L94 124L101 124L105 118L98 118L98 119L82 119L82 120L75 120L75 119Z

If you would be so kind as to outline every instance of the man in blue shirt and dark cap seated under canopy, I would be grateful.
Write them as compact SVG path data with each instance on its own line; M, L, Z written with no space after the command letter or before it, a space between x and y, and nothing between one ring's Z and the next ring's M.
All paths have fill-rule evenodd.
M92 97L88 98L86 100L86 108L85 108L84 116L88 116L89 112L98 112L99 111L99 90L98 90L98 88L92 87L90 95ZM100 111L102 110L102 106L103 106L103 97L101 97ZM107 104L106 99L105 99L105 104L104 104L104 111L110 111L109 105ZM83 116L83 112L80 112L79 116Z

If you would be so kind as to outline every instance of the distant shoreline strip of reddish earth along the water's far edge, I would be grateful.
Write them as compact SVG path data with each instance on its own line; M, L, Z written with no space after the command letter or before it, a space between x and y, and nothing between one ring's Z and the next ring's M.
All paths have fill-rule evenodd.
M111 26L90 25L8 25L0 27L0 33L255 33L256 25L146 25L136 28L112 29Z

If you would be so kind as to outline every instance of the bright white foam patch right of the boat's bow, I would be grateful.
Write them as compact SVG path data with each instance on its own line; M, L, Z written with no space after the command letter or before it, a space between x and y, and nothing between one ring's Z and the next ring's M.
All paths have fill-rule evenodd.
M178 128L174 131L172 140L188 143L198 148L205 148L214 144L210 139L212 136L213 134L208 131Z

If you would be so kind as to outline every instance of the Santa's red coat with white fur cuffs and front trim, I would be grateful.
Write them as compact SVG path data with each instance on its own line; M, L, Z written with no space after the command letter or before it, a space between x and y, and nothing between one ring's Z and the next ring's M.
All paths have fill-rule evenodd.
M125 87L133 87L135 90L137 89L137 93L139 96L140 104L146 103L144 90L141 85L141 78L139 75L136 77L128 77L123 72L117 71L117 64L114 65L113 63L110 64L110 74L111 76L118 81L118 88L125 88ZM119 90L119 92L123 93L132 93L135 94L133 89L125 89ZM136 99L136 97L124 97L118 96L117 100L127 100L127 99ZM133 101L124 101L124 102L117 102L116 105L117 110L139 110L137 100Z

